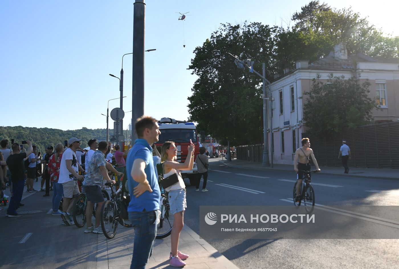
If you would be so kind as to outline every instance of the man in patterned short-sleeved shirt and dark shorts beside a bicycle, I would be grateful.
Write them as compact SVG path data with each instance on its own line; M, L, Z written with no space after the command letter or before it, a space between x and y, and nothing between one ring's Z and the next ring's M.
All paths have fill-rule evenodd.
M93 212L94 204L97 203L97 208L101 208L104 203L104 197L101 192L101 186L103 184L103 178L107 182L115 184L115 180L111 180L108 176L107 168L105 168L106 160L105 153L108 149L107 141L101 141L98 144L98 150L93 153L90 161L88 162L87 175L83 181L83 190L87 197L86 206L86 224L87 229L85 233L103 233L100 226L101 210L96 210L96 224L93 227L91 223L91 214Z

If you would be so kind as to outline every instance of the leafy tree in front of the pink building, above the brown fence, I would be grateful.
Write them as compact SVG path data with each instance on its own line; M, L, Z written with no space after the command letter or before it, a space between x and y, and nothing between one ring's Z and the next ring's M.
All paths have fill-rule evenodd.
M340 135L345 128L370 123L371 110L377 108L377 103L368 97L369 86L367 80L359 84L355 72L349 79L331 73L327 83L320 81L317 74L310 91L303 93L303 114L309 132L326 138Z

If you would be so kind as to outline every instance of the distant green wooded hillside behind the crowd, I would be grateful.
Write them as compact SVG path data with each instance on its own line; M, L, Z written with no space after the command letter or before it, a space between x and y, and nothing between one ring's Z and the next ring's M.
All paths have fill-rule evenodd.
M126 137L126 130L124 130ZM130 131L128 135L130 136ZM113 135L113 130L109 130L110 138ZM32 144L38 147L38 151L44 153L44 149L51 145L55 146L58 143L63 143L71 137L82 139L82 148L87 147L87 142L90 139L97 139L98 141L107 139L107 129L87 129L83 127L80 130L59 130L49 128L36 128L36 127L22 127L22 126L1 126L0 127L0 140L8 139L9 146L11 146L11 139L14 142L21 144L22 140L31 140ZM26 146L26 145L25 145Z

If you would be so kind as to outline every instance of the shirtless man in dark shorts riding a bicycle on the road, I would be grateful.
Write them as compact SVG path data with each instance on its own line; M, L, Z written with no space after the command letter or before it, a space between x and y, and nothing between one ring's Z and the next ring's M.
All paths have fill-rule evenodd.
M316 169L320 172L319 165L317 164L317 160L314 157L313 150L310 148L309 138L302 138L302 147L298 148L295 151L295 159L294 159L294 170L298 172L298 183L296 184L296 197L295 200L299 201L300 196L300 186L302 185L303 171L310 171L310 156L316 166ZM298 162L298 163L297 163ZM299 171L298 171L299 170Z

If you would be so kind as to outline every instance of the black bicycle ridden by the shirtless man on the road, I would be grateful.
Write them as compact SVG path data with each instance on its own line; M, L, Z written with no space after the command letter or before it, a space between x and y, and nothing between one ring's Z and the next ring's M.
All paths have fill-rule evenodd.
M312 185L310 184L310 173L315 173L318 172L318 170L312 170L312 171L304 171L304 170L299 170L300 172L304 173L304 176L302 178L302 186L300 186L299 192L299 201L296 200L296 184L298 184L298 180L296 180L294 184L294 205L295 206L300 206L302 200L305 206L305 210L308 214L313 212L314 208L314 190Z

